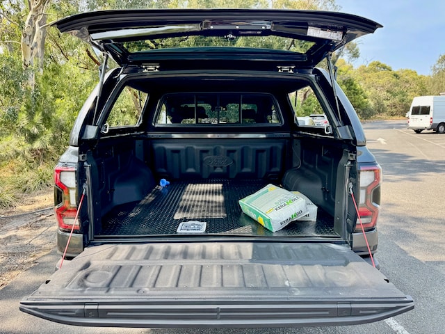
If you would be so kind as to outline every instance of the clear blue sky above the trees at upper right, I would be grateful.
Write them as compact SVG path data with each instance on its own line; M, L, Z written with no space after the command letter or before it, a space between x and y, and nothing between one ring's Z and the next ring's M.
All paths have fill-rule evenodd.
M445 0L337 0L341 12L382 24L355 40L360 58L355 67L380 61L393 70L430 75L445 54Z

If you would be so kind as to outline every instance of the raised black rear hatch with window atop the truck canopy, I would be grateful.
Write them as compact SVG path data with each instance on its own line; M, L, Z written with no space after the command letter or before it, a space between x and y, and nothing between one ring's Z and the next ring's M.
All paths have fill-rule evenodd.
M178 48L184 47L188 54L195 48L200 57L214 47L243 47L244 56L285 54L301 67L314 67L329 52L381 27L344 13L259 9L106 10L52 25L108 52L120 65L153 61L172 49L180 54ZM264 51L268 48L280 51Z

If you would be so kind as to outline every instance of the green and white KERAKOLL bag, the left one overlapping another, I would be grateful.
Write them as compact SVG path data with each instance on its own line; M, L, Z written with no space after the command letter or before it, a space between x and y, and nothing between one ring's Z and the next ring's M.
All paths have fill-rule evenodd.
M273 184L238 202L245 214L272 232L308 213L304 198Z

